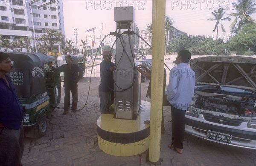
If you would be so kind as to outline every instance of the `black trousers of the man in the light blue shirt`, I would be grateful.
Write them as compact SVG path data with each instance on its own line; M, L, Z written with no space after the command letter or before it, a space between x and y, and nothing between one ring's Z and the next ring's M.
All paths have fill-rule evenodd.
M185 132L185 113L186 110L180 110L171 106L172 109L172 145L183 149L183 140Z

